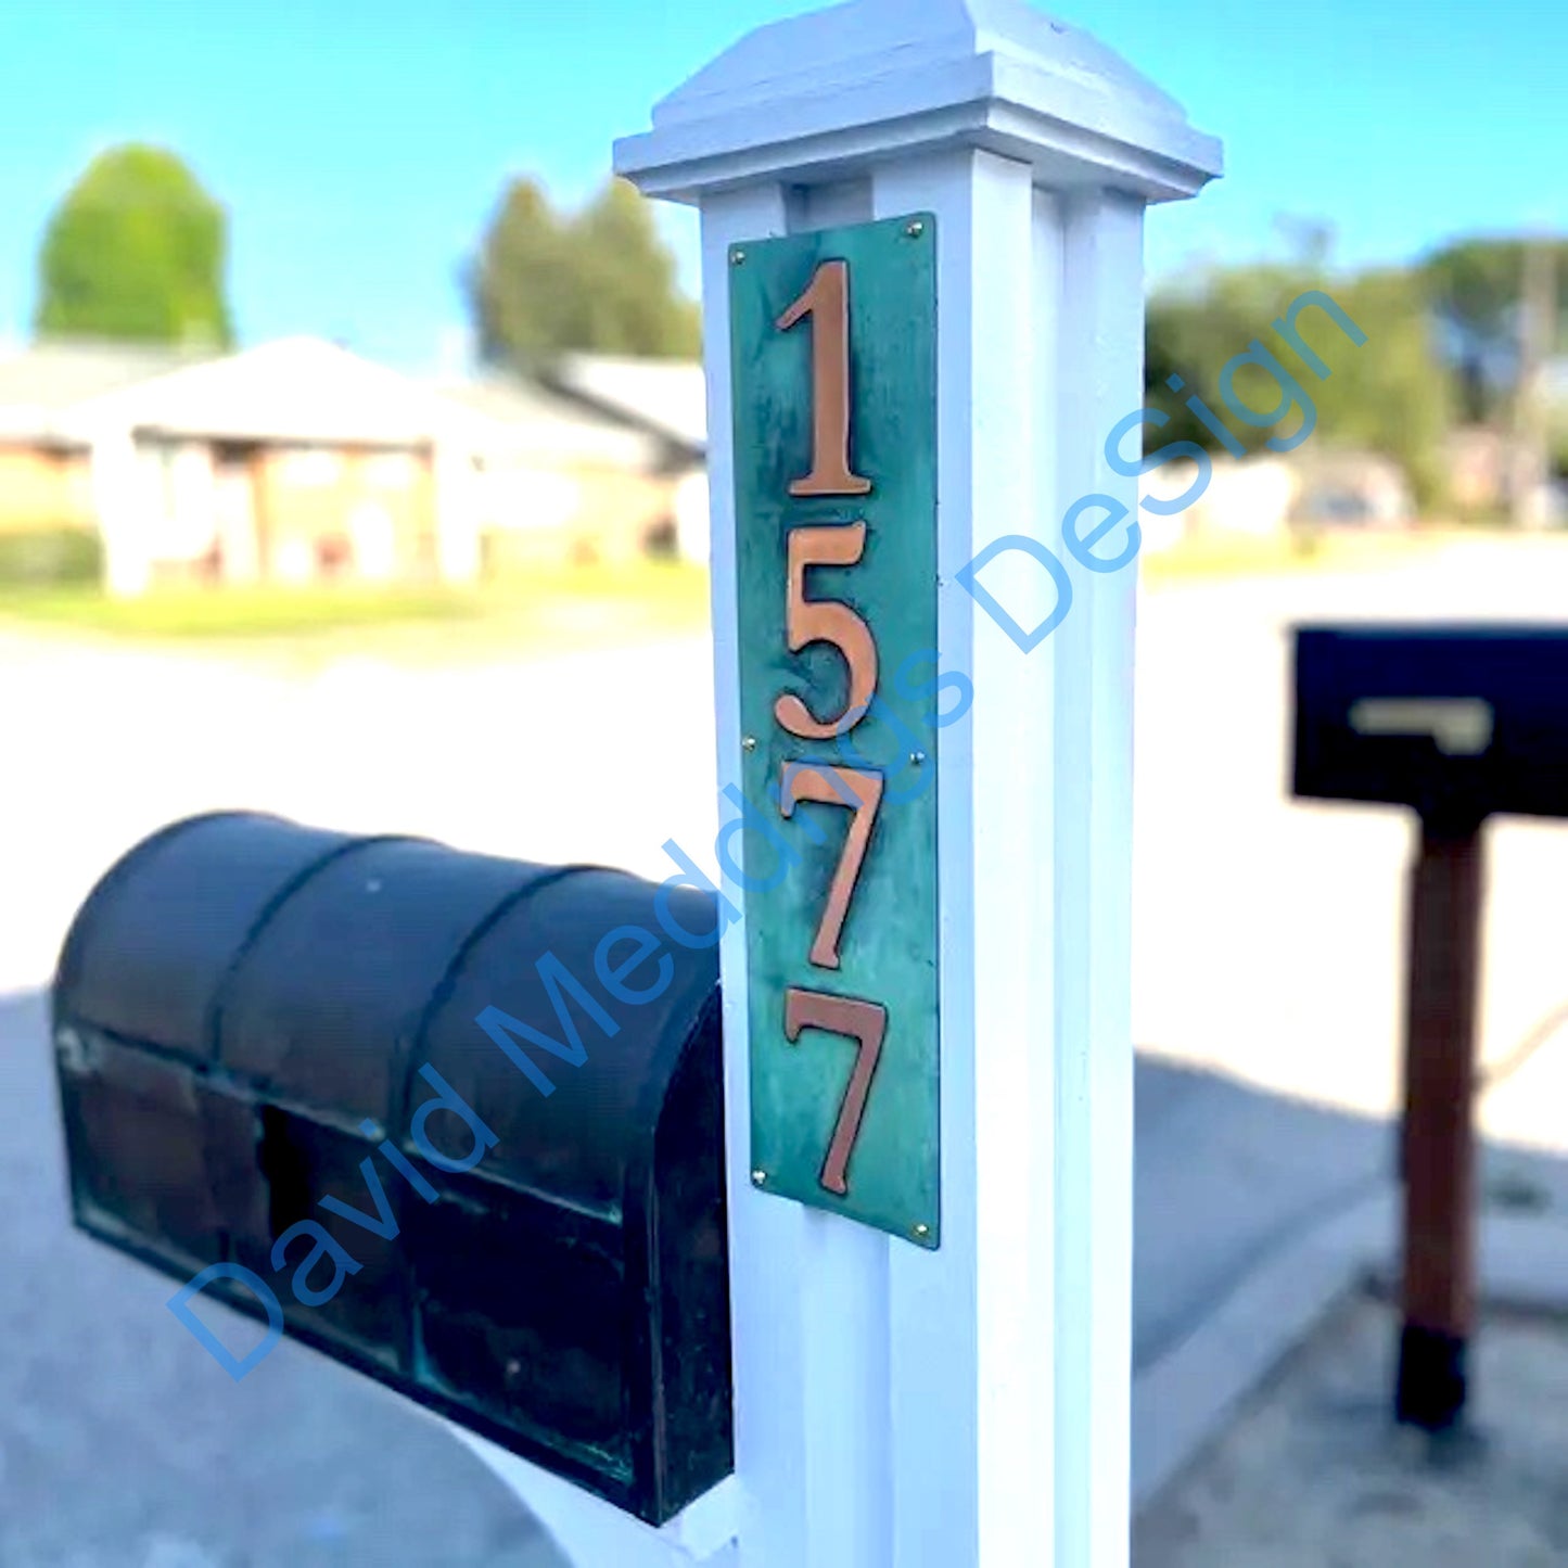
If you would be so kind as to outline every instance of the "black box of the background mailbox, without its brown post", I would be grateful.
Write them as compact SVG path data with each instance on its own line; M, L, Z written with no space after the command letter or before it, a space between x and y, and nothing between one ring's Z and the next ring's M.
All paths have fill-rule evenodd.
M1295 793L1427 822L1568 817L1568 630L1301 627Z

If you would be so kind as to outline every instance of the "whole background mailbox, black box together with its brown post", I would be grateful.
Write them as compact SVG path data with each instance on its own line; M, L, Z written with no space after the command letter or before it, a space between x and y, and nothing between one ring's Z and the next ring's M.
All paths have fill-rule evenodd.
M1394 1410L1438 1432L1475 1322L1477 997L1488 817L1568 817L1568 629L1295 633L1295 793L1413 808Z

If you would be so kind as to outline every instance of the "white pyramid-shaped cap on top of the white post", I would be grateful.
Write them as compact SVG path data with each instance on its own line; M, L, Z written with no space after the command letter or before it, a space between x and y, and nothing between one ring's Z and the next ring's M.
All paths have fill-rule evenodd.
M864 162L883 130L884 151L967 141L1109 168L1151 199L1192 194L1221 163L1174 99L1027 0L848 0L748 33L618 143L616 168L693 199L764 168Z

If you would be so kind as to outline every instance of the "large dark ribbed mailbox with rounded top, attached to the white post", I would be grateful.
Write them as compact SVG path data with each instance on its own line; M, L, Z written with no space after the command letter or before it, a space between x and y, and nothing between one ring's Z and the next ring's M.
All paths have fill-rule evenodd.
M292 1336L663 1523L731 1472L732 1424L717 952L662 941L626 980L652 989L668 956L641 1005L596 978L608 933L662 938L654 895L621 872L271 817L165 829L94 889L55 983L77 1225L180 1281L249 1269ZM713 927L696 891L670 909ZM563 1040L552 975L586 1060L519 1041L544 1094L477 1018ZM412 1137L436 1098L425 1065L495 1137L472 1170L433 1167ZM422 1126L452 1163L475 1145L456 1113ZM364 1160L390 1239L320 1207L376 1223ZM271 1264L301 1220L361 1264L320 1306L290 1286L303 1239ZM205 1289L265 1319L243 1286Z

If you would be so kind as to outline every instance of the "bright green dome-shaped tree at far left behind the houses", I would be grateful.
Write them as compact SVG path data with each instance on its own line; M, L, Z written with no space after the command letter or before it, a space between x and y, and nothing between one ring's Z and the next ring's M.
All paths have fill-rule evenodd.
M55 209L38 262L39 336L229 347L227 218L180 158L96 157Z

